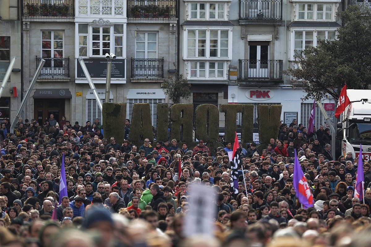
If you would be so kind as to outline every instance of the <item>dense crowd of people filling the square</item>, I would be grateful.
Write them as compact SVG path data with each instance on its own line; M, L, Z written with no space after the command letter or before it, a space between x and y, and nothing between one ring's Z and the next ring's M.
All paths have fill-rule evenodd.
M238 193L231 190L233 142L210 151L199 140L104 138L96 119L74 126L51 114L42 126L19 119L0 129L0 246L367 246L371 165L364 162L364 199L354 196L352 153L333 158L329 130L308 134L294 120L258 150L239 143ZM130 131L125 122L125 136ZM311 186L303 208L293 187L294 152ZM64 160L63 160L64 158ZM61 184L61 167L66 183ZM179 166L180 164L180 166ZM179 170L181 169L181 171ZM187 236L189 191L213 188L212 236ZM59 194L66 186L67 196ZM370 187L368 187L370 186ZM194 224L197 224L196 222ZM356 236L356 238L353 238Z

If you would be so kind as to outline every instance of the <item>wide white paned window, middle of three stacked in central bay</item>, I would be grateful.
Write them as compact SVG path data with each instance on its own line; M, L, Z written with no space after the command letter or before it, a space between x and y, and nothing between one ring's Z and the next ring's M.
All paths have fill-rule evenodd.
M229 30L187 30L187 57L228 57Z

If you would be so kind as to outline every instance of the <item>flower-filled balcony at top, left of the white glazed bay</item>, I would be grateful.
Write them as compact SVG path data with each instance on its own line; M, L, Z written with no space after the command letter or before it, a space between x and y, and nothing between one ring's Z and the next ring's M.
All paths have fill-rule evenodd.
M22 16L74 16L73 0L24 0Z

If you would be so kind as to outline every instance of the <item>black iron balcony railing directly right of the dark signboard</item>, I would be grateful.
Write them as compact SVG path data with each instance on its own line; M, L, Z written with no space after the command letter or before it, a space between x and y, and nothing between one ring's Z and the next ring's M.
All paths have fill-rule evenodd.
M161 59L131 58L131 78L164 78L164 57Z

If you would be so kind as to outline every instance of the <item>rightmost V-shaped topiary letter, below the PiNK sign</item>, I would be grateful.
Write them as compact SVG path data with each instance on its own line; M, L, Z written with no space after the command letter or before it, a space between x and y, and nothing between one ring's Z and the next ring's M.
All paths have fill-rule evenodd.
M281 119L281 105L258 105L257 116L259 119L259 142L269 143L270 138L277 138Z

